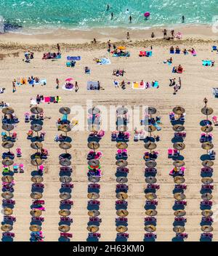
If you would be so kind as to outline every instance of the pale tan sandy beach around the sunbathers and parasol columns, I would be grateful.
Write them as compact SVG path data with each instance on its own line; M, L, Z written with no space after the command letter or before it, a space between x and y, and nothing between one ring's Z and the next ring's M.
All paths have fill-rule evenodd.
M175 29L176 30L176 29ZM142 36L142 31L130 31L132 41L126 41L126 31L123 33L109 33L110 36L102 36L99 32L85 32L84 36L75 35L76 31L69 32L60 38L60 34L56 35L38 35L38 36L21 36L15 33L7 33L0 35L0 87L4 87L4 94L0 95L0 101L5 101L15 109L20 123L17 124L16 132L18 140L15 147L20 147L23 151L21 159L16 159L15 162L23 163L25 172L15 175L15 193L16 200L13 215L17 217L14 223L13 232L15 233L15 241L29 241L31 222L30 206L31 206L31 171L33 167L30 164L30 157L33 150L30 147L30 141L26 138L26 133L30 129L30 124L25 124L24 113L30 110L31 98L36 95L57 96L61 97L61 102L41 103L40 106L44 109L45 116L49 119L44 120L44 131L47 135L44 140L44 147L49 151L49 157L45 161L46 172L44 173L44 197L46 212L44 212L44 223L42 231L44 233L44 241L57 241L60 236L58 231L58 223L60 216L58 215L60 206L60 181L59 181L59 160L58 156L62 153L55 142L54 137L58 134L56 121L60 118L59 108L73 105L81 105L86 110L86 100L93 100L93 105L105 105L107 108L110 105L129 105L133 108L134 105L148 105L157 109L157 115L161 116L161 131L158 135L161 141L158 143L157 151L159 152L157 160L158 175L157 183L160 184L160 189L157 191L158 199L158 215L156 225L156 241L171 241L174 237L174 182L169 176L169 171L172 168L172 161L167 157L167 149L172 147L171 139L174 136L174 131L171 129L169 121L169 112L176 105L181 105L185 108L186 120L185 131L185 150L182 155L185 157L185 183L187 190L185 191L187 207L187 223L185 224L185 232L188 233L188 238L185 241L199 241L201 236L201 159L200 156L204 153L201 148L199 138L201 136L200 121L204 119L201 113L203 108L203 98L209 100L208 105L214 109L214 116L218 116L217 99L212 95L212 88L217 87L217 53L211 52L211 46L216 43L216 34L210 32L210 28L179 28L184 34L184 39L181 41L164 41L162 39L161 28L158 28L155 33L157 39L150 39L150 31L145 31ZM60 32L61 33L61 32ZM65 32L67 33L67 32ZM91 33L91 34L90 34ZM144 31L143 31L144 33ZM62 34L62 33L61 33ZM47 38L46 38L47 37ZM83 37L84 39L81 39ZM96 45L89 44L93 38L101 41ZM131 56L112 57L106 50L106 41L111 39L116 44L124 44ZM55 45L60 43L62 50L62 58L57 61L42 60L43 51L47 52L55 49ZM81 44L80 44L81 43ZM153 45L152 57L139 57L140 50L149 50L150 45ZM179 45L181 49L196 50L197 56L192 55L173 55L172 65L182 65L184 72L182 74L171 73L172 65L163 64L163 60L169 59L169 47L171 45ZM34 59L31 63L23 62L25 49L34 51ZM81 56L81 61L76 63L75 68L67 68L65 66L66 57ZM110 65L97 65L94 57L110 58ZM204 67L202 60L215 60L214 67ZM91 74L84 73L84 67L91 68ZM127 85L126 89L115 88L113 86L112 76L113 69L124 68L124 80L130 81L153 81L159 82L158 89L150 88L145 90L135 90L131 85ZM17 91L12 93L13 79L39 76L41 79L47 79L45 86L31 87L23 85L17 87ZM173 88L169 87L169 79L175 77L182 79L182 88L179 89L177 95L173 95ZM56 89L55 79L60 80L60 84L64 84L65 79L73 77L74 81L78 81L78 92L65 91ZM120 78L117 79L121 81ZM87 81L100 81L104 90L87 91ZM70 118L73 116L71 115ZM211 117L210 117L211 119ZM73 217L73 223L70 226L70 232L73 233L71 241L86 241L87 223L89 216L87 215L87 161L86 154L89 152L87 148L87 138L89 132L69 132L73 138L72 148L69 153L73 159L73 192L72 200L73 207L70 217ZM115 241L116 239L116 143L110 140L111 132L107 131L105 137L100 141L100 151L102 151L101 167L102 178L100 180L100 241ZM142 141L134 142L134 131L131 132L128 147L128 241L143 241L144 239L144 218L145 218L145 161L143 154L145 153L144 143ZM217 151L218 145L218 130L214 127L214 150ZM1 147L1 152L3 148ZM216 169L218 167L217 159L214 161L214 191L213 204L218 204L217 196L217 179ZM216 215L214 211L214 219ZM214 220L214 221L215 221ZM218 231L216 223L214 223L214 239L218 241Z

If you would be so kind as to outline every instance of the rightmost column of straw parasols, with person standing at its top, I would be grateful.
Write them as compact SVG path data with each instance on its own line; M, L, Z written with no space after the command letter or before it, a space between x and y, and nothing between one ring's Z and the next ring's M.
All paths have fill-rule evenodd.
M211 233L214 228L212 227L213 220L213 211L211 210L211 207L213 205L213 201L211 200L213 198L212 191L214 189L213 185L213 168L215 154L214 151L211 150L214 148L214 145L212 143L212 135L209 134L209 132L212 132L212 122L209 120L209 116L214 112L212 108L207 106L208 100L205 98L203 100L204 107L201 108L201 113L206 116L206 119L201 121L201 131L205 132L204 135L201 134L201 148L206 150L206 155L201 156L202 165L201 168L201 241L211 241L213 239L213 234Z

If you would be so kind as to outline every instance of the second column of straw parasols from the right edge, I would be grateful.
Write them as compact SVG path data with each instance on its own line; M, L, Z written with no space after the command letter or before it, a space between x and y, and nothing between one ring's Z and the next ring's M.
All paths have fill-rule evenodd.
M172 153L169 150L169 158L174 159L173 165L174 168L171 170L170 175L174 177L174 228L173 231L176 233L175 240L183 241L187 239L188 234L185 233L185 223L187 221L185 215L185 206L187 201L185 201L184 191L187 188L185 184L185 161L184 157L180 155L180 151L185 149L185 108L177 106L173 108L173 113L176 115L174 119L170 119L171 124L173 125L172 129L174 130L174 145ZM182 136L181 136L182 135ZM185 135L185 136L184 136ZM174 241L174 240L173 240Z

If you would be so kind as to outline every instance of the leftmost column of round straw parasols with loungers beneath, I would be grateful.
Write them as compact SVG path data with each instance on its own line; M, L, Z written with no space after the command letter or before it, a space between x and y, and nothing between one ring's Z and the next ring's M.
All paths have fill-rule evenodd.
M8 132L7 140L4 140L2 143L3 148L8 150L7 153L3 153L2 164L4 166L3 176L1 177L2 181L2 212L4 215L3 222L1 223L2 241L13 241L15 233L11 232L13 230L13 224L16 221L16 217L12 216L13 209L15 207L14 197L14 172L11 169L12 164L14 164L13 159L15 155L10 151L14 147L14 143L11 141L12 135L11 131L15 128L15 120L12 118L12 114L15 113L13 108L3 108L2 113L4 113L4 121L2 122L2 129Z

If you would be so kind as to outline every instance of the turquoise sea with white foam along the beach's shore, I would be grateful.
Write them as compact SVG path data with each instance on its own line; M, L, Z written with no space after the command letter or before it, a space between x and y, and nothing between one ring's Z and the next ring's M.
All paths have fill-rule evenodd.
M186 24L208 24L218 15L218 0L1 0L0 15L8 29L20 26L33 33L39 28L149 28L179 24L182 15Z

